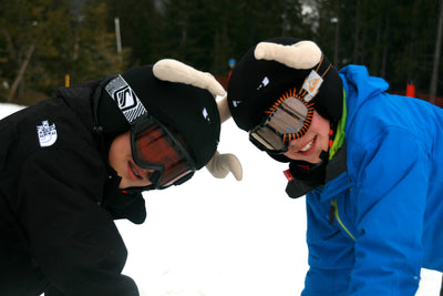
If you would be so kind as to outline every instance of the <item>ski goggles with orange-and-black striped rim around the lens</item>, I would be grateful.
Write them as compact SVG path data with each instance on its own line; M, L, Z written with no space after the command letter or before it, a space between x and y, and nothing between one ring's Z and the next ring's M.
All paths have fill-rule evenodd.
M313 115L313 103L288 91L265 112L264 121L249 131L249 140L258 149L269 153L285 153L290 141L301 137L309 129Z

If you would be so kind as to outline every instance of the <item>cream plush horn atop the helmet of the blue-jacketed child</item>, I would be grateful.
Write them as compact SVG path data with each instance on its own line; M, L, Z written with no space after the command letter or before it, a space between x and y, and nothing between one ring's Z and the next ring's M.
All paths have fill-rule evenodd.
M293 69L311 69L320 62L321 50L312 41L300 41L291 45L260 42L254 57L257 60L277 61Z

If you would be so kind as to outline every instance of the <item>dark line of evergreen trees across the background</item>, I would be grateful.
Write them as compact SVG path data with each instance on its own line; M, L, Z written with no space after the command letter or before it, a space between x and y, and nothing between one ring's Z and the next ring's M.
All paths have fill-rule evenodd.
M391 91L441 94L442 2L0 0L0 102L29 104L162 58L226 76L229 60L278 35L316 41L337 68L364 64Z

